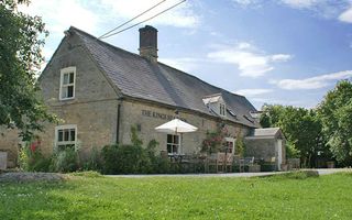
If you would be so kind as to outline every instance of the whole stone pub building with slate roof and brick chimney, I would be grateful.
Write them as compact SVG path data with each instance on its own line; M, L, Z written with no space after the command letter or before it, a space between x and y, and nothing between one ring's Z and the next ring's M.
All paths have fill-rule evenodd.
M63 119L41 134L44 154L74 144L85 157L92 147L127 144L131 125L144 145L154 139L158 150L168 153L179 153L180 144L183 153L199 152L207 131L219 124L228 130L230 146L239 134L255 134L256 109L245 97L157 61L156 29L140 29L139 51L140 55L127 52L73 26L65 32L38 79L45 103ZM177 135L155 131L176 110L198 128L184 134L182 143Z

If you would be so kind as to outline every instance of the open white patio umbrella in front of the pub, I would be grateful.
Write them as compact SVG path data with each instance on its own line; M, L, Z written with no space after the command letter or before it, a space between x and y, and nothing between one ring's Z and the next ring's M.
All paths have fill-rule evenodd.
M179 148L182 150L182 141L183 141L182 134L188 133L188 132L195 132L198 130L198 128L196 128L189 123L186 123L179 119L174 119L174 120L166 122L160 127L156 127L155 130L158 132L169 133L169 134L178 134L179 133L180 134ZM180 153L183 153L183 152L180 151Z

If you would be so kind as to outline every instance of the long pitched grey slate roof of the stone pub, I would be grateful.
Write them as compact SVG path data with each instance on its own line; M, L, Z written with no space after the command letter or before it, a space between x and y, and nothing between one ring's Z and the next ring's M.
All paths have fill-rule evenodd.
M150 62L76 28L72 26L69 32L79 36L94 59L122 95L217 117L216 112L206 107L202 98L221 94L228 110L237 114L235 117L228 114L229 120L258 128L258 123L250 116L250 111L256 110L245 97L215 87L160 62Z

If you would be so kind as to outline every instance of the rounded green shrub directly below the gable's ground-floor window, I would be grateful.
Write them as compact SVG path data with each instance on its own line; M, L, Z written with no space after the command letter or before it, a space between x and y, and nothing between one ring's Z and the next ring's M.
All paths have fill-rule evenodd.
M53 156L52 169L61 173L75 172L78 169L78 156L74 147L59 150Z

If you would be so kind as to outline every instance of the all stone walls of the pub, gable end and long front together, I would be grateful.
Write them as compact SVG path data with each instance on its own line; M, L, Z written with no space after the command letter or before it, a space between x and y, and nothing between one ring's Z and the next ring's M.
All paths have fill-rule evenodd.
M76 67L75 98L59 100L61 69ZM45 124L45 130L40 133L41 148L50 155L55 147L55 127L59 124L77 125L77 142L82 156L89 155L91 147L102 147L117 141L118 106L121 105L119 140L128 144L131 140L131 125L139 125L140 138L144 146L155 139L160 142L157 151L166 150L165 133L158 133L155 128L172 120L175 108L165 106L123 100L119 101L119 90L112 86L87 50L75 35L66 36L44 73L40 77L43 100L48 110L62 121L58 124ZM179 118L198 128L197 132L183 134L183 153L195 153L200 150L201 142L206 139L207 131L216 131L220 119L215 119L193 111L180 111ZM226 124L230 136L234 138L241 130L243 135L249 133L248 128L228 122ZM1 136L0 150L10 151L10 160L16 158L19 140L14 134Z

